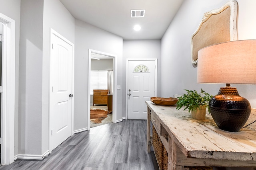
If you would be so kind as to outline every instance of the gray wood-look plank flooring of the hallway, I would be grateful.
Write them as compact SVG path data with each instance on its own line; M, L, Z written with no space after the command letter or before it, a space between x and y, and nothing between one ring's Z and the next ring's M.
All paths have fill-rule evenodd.
M74 134L42 161L16 160L0 170L158 170L146 144L146 120L128 119Z

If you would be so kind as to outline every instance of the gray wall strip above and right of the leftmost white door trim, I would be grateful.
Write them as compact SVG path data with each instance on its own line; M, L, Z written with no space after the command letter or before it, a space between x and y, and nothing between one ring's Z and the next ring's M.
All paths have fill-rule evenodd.
M19 49L20 49L20 0L0 0L0 13L15 20L15 146L18 146L18 92L19 92ZM14 155L18 147L14 148Z

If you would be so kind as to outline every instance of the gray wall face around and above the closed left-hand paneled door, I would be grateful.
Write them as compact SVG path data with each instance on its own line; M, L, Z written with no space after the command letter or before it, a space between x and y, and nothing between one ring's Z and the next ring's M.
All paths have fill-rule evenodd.
M75 19L59 0L44 0L42 59L42 154L48 150L50 28L75 43ZM76 48L76 46L74 47ZM74 57L76 58L76 57ZM75 90L74 90L75 91Z

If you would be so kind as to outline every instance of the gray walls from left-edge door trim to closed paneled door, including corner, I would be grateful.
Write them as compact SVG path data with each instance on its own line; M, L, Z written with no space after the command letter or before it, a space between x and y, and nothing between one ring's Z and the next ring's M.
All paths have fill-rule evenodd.
M74 43L74 18L59 0L21 1L18 154L48 151L50 28Z

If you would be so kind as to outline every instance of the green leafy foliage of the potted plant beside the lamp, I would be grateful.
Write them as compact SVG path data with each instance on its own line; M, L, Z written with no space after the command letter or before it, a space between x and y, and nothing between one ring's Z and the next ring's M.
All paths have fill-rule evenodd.
M202 89L200 93L198 93L196 90L186 90L186 92L187 94L178 97L179 100L177 102L176 109L180 109L184 106L184 110L188 109L190 112L190 110L194 111L196 108L199 108L199 106L206 106L208 107L209 111L209 101L212 98L211 94L206 93Z

